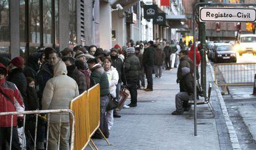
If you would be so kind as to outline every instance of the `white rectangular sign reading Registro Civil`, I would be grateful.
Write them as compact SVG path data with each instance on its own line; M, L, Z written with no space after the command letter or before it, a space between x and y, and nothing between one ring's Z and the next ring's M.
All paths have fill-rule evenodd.
M200 22L255 22L254 8L199 7Z

